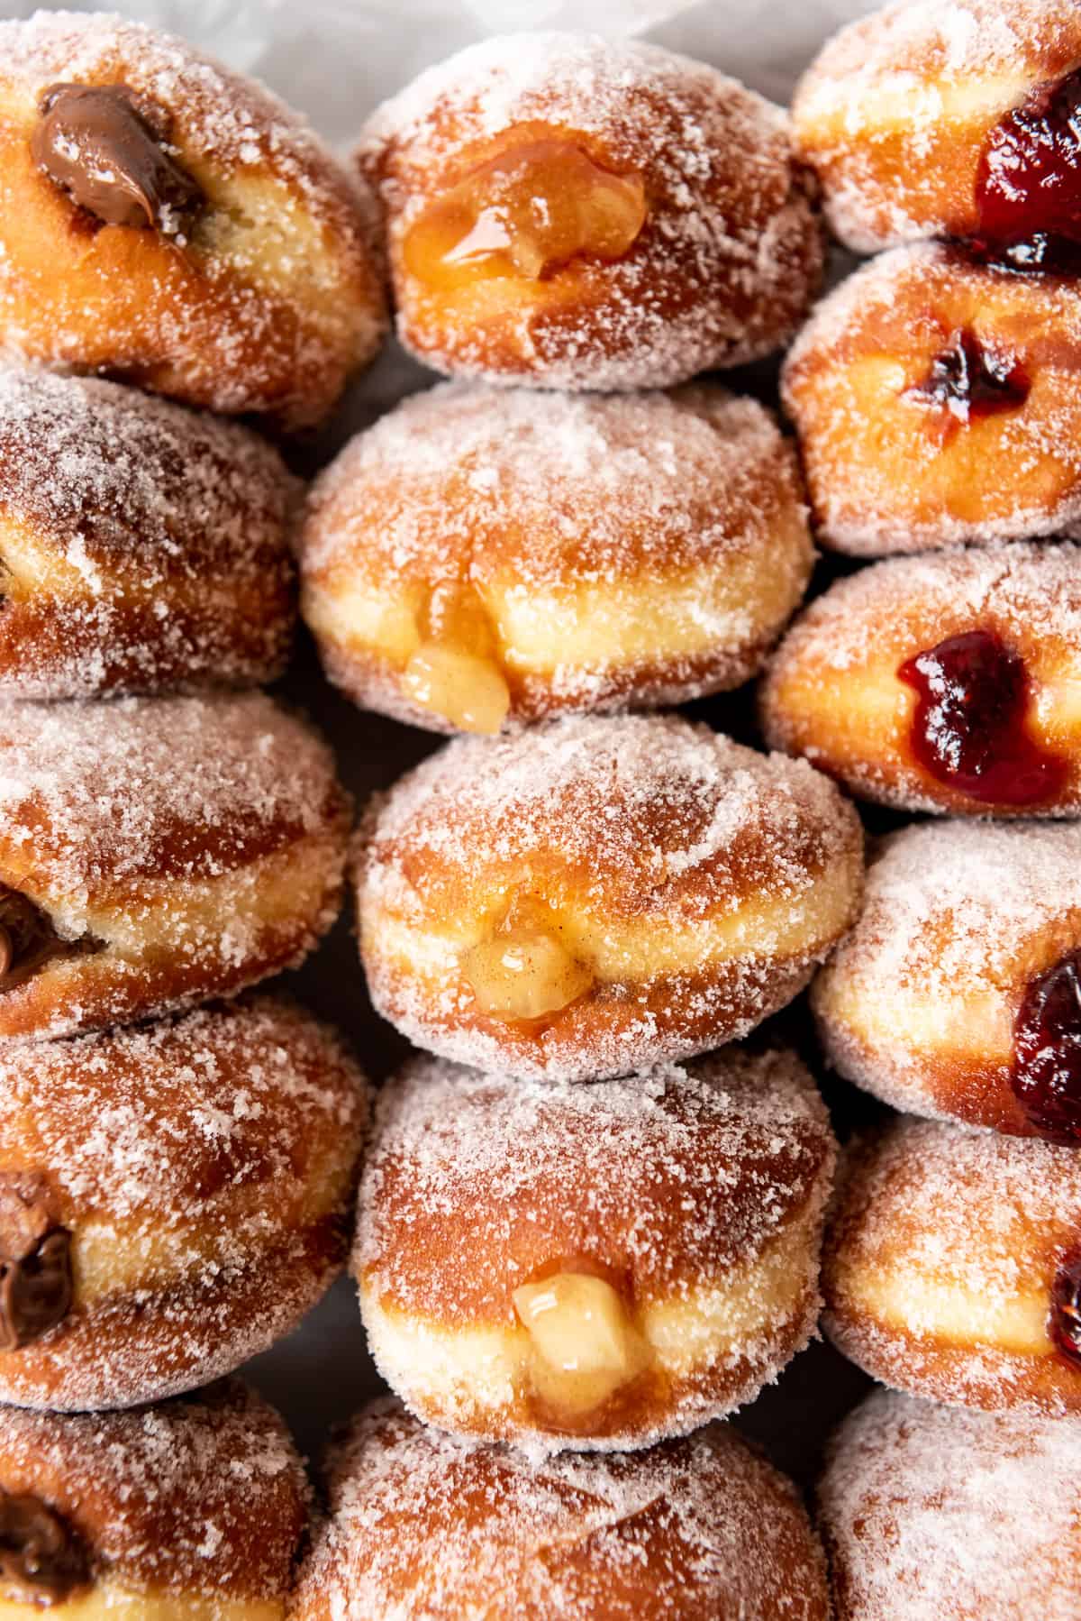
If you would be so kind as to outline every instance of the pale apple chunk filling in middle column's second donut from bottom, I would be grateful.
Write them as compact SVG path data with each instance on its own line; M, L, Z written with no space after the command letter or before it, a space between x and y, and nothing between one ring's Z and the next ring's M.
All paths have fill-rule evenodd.
M553 1272L515 1289L514 1310L532 1342L533 1394L567 1422L601 1407L645 1367L645 1342L603 1277Z

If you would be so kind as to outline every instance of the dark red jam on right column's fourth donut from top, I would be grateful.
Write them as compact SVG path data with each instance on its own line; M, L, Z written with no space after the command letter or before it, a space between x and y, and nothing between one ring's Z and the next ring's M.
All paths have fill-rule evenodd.
M1081 1141L1081 952L1029 981L1013 1023L1010 1084L1042 1136Z

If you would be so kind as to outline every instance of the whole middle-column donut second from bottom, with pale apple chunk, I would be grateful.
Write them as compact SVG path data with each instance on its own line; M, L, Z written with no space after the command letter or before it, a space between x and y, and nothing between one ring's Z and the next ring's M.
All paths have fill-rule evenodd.
M429 1423L637 1448L752 1401L818 1318L833 1138L788 1052L572 1086L417 1059L379 1097L353 1274Z

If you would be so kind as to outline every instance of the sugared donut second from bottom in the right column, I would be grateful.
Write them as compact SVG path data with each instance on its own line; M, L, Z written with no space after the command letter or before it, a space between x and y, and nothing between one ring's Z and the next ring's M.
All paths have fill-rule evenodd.
M822 1292L830 1339L883 1384L1081 1415L1081 1156L895 1120L849 1151Z

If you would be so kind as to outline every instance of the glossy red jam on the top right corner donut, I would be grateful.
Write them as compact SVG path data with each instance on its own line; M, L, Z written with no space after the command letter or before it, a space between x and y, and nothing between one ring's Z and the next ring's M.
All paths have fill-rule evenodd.
M977 250L1015 269L1076 269L1081 258L1081 71L1002 118L976 173Z

